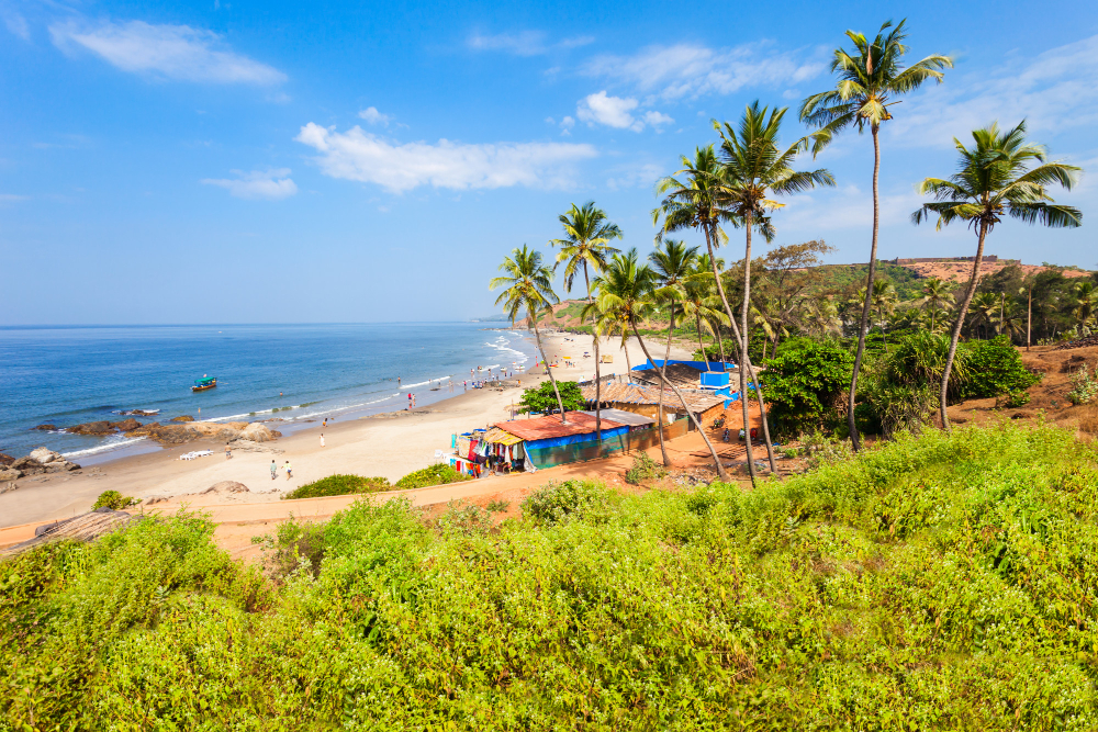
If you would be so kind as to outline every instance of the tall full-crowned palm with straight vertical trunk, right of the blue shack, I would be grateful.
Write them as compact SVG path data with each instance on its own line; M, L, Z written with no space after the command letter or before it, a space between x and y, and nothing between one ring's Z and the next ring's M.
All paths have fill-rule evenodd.
M769 213L784 204L771 200L772 194L796 193L816 185L834 185L834 177L827 170L810 172L795 171L791 167L797 155L808 146L808 138L802 137L782 150L777 134L786 109L760 106L755 101L744 110L737 129L731 123L724 126L714 121L714 128L720 134L721 168L718 183L718 200L728 207L733 223L739 222L747 230L743 251L743 305L740 312L740 354L748 363L748 312L751 306L751 233L754 228L766 241L774 238L774 227ZM769 114L768 114L769 113ZM754 482L754 460L751 455L751 430L748 429L747 373L740 369L740 401L743 403L743 435L748 459L748 470ZM762 412L762 428L766 437L768 457L771 471L777 472L774 449L766 424L762 392L755 387L759 408Z

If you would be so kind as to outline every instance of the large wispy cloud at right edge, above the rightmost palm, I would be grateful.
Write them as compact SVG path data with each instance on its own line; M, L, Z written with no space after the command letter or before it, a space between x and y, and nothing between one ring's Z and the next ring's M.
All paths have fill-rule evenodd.
M994 121L1013 126L1028 119L1030 135L1098 124L1098 35L1053 48L1031 61L1008 60L995 72L950 76L896 109L884 126L889 144L952 148L953 138ZM910 105L910 106L909 106ZM1053 150L1053 157L1056 157Z

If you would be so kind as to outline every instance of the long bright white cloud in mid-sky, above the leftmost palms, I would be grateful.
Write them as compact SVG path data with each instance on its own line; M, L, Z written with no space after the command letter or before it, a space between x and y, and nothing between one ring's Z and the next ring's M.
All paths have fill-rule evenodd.
M591 145L571 143L399 144L359 126L340 133L313 122L294 139L320 153L315 160L324 174L377 183L396 193L418 185L567 188L573 180L571 166L597 155Z

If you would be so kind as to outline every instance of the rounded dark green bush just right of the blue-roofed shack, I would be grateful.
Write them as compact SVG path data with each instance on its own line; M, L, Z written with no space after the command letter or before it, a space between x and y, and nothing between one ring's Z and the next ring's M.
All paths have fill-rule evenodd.
M791 338L765 367L760 381L775 435L795 437L842 424L854 357L840 344Z

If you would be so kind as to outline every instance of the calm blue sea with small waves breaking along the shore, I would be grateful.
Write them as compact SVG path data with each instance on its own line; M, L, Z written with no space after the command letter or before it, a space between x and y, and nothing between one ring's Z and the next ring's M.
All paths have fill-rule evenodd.
M88 462L152 449L147 440L31 431L159 409L206 420L317 419L391 412L461 393L470 369L529 365L526 334L479 323L0 328L0 452L45 444ZM482 373L482 372L481 372ZM217 387L192 393L203 374ZM397 386L396 378L401 378ZM449 380L456 383L449 391ZM442 380L442 388L430 391ZM287 409L287 407L290 407ZM277 414L271 410L278 408ZM253 415L255 413L255 415Z

